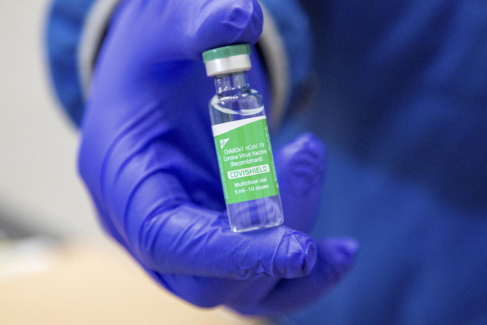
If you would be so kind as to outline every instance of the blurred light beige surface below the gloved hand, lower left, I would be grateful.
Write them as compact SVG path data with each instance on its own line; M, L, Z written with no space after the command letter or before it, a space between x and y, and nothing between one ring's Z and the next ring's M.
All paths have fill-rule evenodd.
M263 324L175 298L113 244L70 245L55 255L46 271L0 280L0 324Z

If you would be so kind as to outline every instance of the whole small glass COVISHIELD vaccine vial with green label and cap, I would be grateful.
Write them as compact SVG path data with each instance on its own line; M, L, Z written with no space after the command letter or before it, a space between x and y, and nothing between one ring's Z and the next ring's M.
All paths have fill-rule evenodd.
M202 56L207 76L215 77L210 115L230 229L280 225L283 207L262 95L247 80L250 46L219 47Z

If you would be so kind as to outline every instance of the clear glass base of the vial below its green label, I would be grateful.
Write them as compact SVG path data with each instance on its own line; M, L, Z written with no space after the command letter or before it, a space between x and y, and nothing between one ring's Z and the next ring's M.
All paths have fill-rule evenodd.
M234 233L271 228L283 224L279 195L227 205L230 229Z

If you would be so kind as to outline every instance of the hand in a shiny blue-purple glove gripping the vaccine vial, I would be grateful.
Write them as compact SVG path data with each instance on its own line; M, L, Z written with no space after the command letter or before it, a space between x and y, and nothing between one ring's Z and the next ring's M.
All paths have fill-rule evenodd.
M82 124L79 168L107 231L162 286L202 307L248 314L299 308L351 267L351 239L302 233L316 212L321 143L303 135L275 154L285 226L232 233L224 211L200 53L255 43L253 0L131 0L113 16ZM271 111L262 63L251 85Z

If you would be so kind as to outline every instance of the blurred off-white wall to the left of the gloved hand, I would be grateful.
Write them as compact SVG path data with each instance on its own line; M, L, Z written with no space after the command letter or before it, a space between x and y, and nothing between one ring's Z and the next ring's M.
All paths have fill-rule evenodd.
M5 222L62 236L100 236L76 173L76 130L47 77L48 4L0 3L1 228Z

